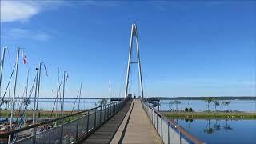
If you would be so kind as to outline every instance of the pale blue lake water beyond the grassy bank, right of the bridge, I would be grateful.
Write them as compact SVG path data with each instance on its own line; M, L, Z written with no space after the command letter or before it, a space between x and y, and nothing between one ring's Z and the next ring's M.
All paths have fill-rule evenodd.
M203 100L180 100L178 104L178 110L184 110L186 107L191 107L194 111L207 110L206 102ZM160 110L176 110L175 104L170 105L170 100L161 101ZM222 101L220 101L222 103ZM210 103L210 110L215 110L213 103ZM222 104L217 107L217 110L225 110L225 106ZM256 112L256 101L255 100L231 100L227 110L238 110L238 111L248 111Z

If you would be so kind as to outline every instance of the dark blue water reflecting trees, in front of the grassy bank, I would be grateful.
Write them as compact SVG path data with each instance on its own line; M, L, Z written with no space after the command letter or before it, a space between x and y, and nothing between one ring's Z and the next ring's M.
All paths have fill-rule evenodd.
M256 120L178 119L178 124L206 143L256 143Z

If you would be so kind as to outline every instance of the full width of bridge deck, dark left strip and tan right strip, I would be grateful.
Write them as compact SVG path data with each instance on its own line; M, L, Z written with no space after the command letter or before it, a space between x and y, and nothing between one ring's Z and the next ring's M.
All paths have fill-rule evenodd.
M83 143L162 143L139 99L122 110Z

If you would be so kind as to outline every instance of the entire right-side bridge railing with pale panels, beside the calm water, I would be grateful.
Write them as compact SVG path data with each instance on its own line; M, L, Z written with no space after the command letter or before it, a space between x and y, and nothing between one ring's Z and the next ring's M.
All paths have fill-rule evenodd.
M149 103L142 100L142 107L146 111L146 114L150 118L157 130L159 136L162 138L162 142L165 144L170 143L198 143L204 142L195 138L192 134L186 131L182 126L179 126L173 120L170 120L155 110Z

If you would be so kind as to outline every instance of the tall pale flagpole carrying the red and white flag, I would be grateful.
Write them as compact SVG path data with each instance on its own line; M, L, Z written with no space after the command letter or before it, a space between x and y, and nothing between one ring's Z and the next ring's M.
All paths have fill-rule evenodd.
M18 52L17 52L17 58L16 58L16 72L15 72L15 81L14 81L14 97L13 97L13 105L11 106L11 111L10 111L10 129L9 131L12 130L12 122L13 122L13 117L14 117L14 100L15 100L15 95L16 95L16 86L17 86L17 77L18 77L18 59L19 59L19 50L20 48L18 47ZM10 144L11 141L11 134L9 135L8 138L8 143Z

